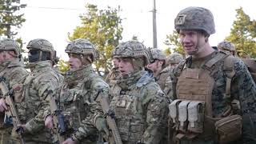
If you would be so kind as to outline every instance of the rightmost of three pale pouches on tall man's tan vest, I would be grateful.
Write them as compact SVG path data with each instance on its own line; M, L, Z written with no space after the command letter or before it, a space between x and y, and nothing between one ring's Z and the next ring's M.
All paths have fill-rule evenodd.
M188 130L193 133L203 132L205 102L192 101L188 106Z

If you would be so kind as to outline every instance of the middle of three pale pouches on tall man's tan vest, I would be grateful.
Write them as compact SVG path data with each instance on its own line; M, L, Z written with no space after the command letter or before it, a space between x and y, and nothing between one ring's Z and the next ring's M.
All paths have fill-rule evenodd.
M179 122L178 130L182 132L186 132L187 130L187 125L188 125L187 106L189 105L189 103L190 101L182 101L178 105L178 122Z

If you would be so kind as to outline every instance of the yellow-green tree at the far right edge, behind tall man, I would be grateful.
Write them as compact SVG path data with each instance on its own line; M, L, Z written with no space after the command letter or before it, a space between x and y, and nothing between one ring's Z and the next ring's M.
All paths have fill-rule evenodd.
M233 22L230 35L225 40L234 43L236 50L245 51L256 58L256 21L250 20L242 7L236 11L236 20Z

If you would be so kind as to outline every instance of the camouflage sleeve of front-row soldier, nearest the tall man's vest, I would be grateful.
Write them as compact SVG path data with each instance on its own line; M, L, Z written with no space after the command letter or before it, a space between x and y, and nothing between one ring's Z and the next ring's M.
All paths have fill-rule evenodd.
M146 129L143 143L159 143L165 133L167 102L160 87L154 83L146 88L146 98L142 102L146 110Z

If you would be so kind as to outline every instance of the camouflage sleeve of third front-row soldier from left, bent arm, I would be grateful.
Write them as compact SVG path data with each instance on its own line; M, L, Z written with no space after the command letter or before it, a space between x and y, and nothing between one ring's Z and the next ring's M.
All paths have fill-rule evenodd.
M94 80L91 82L90 90L90 102L87 102L90 110L88 111L86 118L82 121L82 125L74 134L72 134L72 138L78 142L82 138L86 138L98 131L95 127L95 121L97 118L103 117L103 111L100 103L95 102L95 98L100 90L102 90L103 96L108 97L110 87L102 80L102 78L94 78Z

